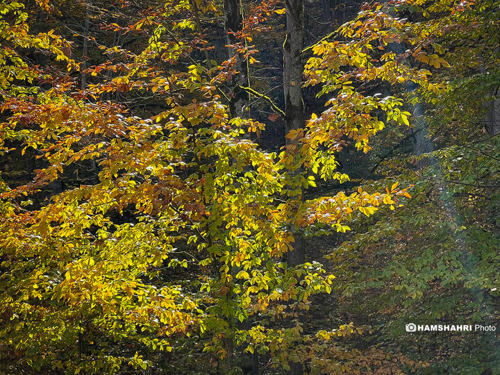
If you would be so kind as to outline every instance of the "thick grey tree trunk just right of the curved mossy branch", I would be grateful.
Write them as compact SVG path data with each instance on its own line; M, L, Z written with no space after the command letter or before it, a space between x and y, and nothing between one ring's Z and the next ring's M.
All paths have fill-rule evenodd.
M285 131L302 128L304 124L304 105L302 100L302 49L303 49L303 0L288 0L286 3L286 39L283 44L283 88L285 94ZM287 144L294 141L287 138ZM300 172L300 171L298 171ZM296 172L297 173L297 172ZM301 194L303 199L303 193ZM306 246L294 226L294 248L289 251L287 262L290 267L304 263ZM303 373L301 363L290 363L290 373Z

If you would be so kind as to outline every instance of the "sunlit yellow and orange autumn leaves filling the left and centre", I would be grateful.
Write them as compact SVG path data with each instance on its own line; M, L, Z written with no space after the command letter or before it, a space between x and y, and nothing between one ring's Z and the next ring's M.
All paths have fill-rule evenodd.
M237 374L252 361L269 374L291 363L317 374L424 371L428 358L401 346L358 347L356 335L373 333L367 325L305 329L303 317L318 297L382 288L392 283L391 272L401 281L390 288L423 296L397 265L381 271L382 281L356 274L353 263L384 269L373 253L376 242L418 241L412 230L425 231L425 222L410 228L399 215L411 216L406 205L426 193L420 167L435 167L417 158L441 156L401 157L385 166L383 177L360 183L339 159L346 149L383 149L383 131L398 137L410 131L419 116L415 106L446 114L439 108L448 108L443 98L453 94L453 83L444 69L452 63L459 69L462 60L437 39L453 44L458 37L450 33L460 33L451 31L453 22L474 33L481 20L462 17L481 13L481 6L363 6L303 51L297 84L313 90L324 108L308 112L303 128L283 133L283 147L266 149L260 140L282 115L280 103L260 94L260 83L242 88L234 78L242 61L249 72L260 63L257 42L277 29L283 3L244 4L235 44L217 47L205 26L224 12L217 1L2 0L1 157L10 172L25 172L4 168L0 175L0 371ZM401 16L412 7L434 28ZM67 12L90 17L93 31L68 33ZM82 40L87 51L78 49ZM383 87L390 92L381 94ZM241 90L274 116L235 115L230 103ZM443 152L448 158L453 151ZM496 181L498 163L492 168L489 181ZM340 188L320 189L328 184ZM498 233L491 208L484 210L483 228ZM367 239L363 228L381 233ZM399 229L409 231L406 240L394 234ZM287 263L299 237L332 236L345 240L331 246L333 267L311 257ZM498 235L489 240L492 249ZM367 253L352 259L349 251L360 246ZM402 256L403 245L390 246ZM430 270L431 263L417 265ZM492 277L490 290L498 281ZM430 288L439 295L437 285Z

